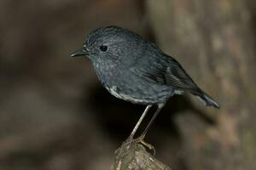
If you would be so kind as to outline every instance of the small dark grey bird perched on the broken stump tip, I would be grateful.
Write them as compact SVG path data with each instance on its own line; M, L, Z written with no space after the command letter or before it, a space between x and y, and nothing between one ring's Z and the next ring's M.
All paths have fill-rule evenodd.
M155 117L174 94L194 94L205 105L219 108L217 102L195 84L176 59L133 31L119 26L91 31L84 40L83 48L71 56L80 55L90 59L97 77L110 94L134 104L147 105L128 139L133 139L149 108L158 105L138 138L143 142Z

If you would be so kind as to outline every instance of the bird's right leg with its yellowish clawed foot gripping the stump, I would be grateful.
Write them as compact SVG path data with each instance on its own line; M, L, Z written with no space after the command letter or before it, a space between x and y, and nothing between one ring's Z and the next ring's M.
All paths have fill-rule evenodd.
M154 119L156 116L158 116L158 114L160 113L161 109L164 107L165 104L161 104L161 105L158 105L158 108L157 110L154 112L154 116L151 118L150 122L148 123L147 127L145 128L145 130L143 131L142 135L140 137L138 137L136 140L137 140L137 143L141 143L145 146L148 147L149 150L153 150L153 152L155 153L155 150L154 150L154 146L152 144L148 144L147 142L144 141L144 138L146 136L146 134L148 133L148 129L149 127L152 125L152 123L154 122Z

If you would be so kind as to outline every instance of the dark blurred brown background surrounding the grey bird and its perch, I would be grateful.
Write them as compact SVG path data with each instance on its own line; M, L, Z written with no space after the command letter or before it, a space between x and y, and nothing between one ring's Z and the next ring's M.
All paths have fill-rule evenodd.
M170 99L146 138L157 159L256 169L255 11L253 0L1 0L0 169L110 169L144 106L108 94L89 60L69 55L111 25L157 43L222 105Z

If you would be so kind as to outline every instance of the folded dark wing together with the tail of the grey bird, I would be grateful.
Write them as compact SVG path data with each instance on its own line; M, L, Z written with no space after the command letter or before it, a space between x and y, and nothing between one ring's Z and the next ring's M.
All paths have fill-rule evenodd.
M205 105L219 108L214 99L198 88L176 59L165 55L159 58L141 59L141 61L131 68L131 71L138 77L142 77L148 82L170 86L177 94L189 92L198 96Z

